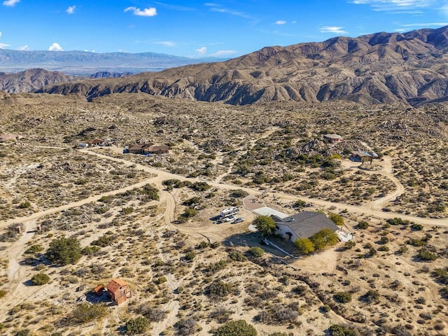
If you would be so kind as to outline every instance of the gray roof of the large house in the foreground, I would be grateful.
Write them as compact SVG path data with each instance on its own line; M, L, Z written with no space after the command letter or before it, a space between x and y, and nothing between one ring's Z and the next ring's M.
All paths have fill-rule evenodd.
M321 212L303 211L286 218L275 215L271 217L274 218L276 224L288 226L297 237L309 238L322 229L339 230L337 225Z

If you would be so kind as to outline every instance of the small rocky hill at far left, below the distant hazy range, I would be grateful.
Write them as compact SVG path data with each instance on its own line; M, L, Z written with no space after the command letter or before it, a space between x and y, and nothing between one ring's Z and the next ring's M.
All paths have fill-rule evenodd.
M77 79L75 76L45 69L29 69L18 73L0 72L0 90L9 93L29 92L45 85L65 83L75 79Z

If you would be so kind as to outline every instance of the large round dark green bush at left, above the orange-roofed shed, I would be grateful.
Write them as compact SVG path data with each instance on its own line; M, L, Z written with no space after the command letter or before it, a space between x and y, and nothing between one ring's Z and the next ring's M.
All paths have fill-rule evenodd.
M53 239L45 253L50 262L57 265L76 264L81 258L81 248L78 239L65 238Z

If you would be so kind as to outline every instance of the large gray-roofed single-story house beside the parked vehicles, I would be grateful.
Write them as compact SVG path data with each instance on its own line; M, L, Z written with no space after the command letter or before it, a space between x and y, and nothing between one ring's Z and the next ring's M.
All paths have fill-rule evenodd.
M275 215L271 215L271 218L274 219L276 233L290 241L309 238L322 229L330 229L335 232L339 230L337 225L321 212L303 211L285 218Z

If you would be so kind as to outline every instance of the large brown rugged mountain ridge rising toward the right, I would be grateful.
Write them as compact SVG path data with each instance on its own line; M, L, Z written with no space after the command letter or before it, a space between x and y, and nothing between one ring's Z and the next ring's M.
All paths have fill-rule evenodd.
M228 104L346 99L415 105L447 99L447 51L448 27L381 32L267 47L226 62L158 73L50 85L39 92L76 92L87 99L112 92L146 92Z

